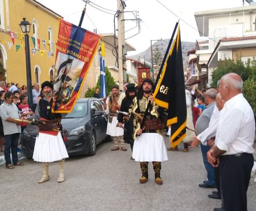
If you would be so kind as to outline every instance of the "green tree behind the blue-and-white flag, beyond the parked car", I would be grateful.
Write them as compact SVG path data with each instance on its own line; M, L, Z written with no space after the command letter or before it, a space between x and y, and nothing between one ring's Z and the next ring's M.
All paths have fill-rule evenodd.
M111 76L110 71L108 70L108 67L105 67L105 74L106 74L106 84L107 84L107 96L109 95L109 92L111 92L111 88L116 84L114 78ZM97 80L96 87L100 87L100 76ZM85 92L84 97L92 97L95 93L96 87L89 88L87 92ZM99 92L100 94L100 92Z

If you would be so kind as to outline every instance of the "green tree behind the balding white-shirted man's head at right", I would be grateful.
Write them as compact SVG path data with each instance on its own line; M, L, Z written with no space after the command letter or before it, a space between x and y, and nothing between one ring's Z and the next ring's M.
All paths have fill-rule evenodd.
M256 118L256 60L243 62L241 57L236 61L221 61L212 73L212 87L217 87L217 81L228 73L237 73L243 79L243 95L252 106Z

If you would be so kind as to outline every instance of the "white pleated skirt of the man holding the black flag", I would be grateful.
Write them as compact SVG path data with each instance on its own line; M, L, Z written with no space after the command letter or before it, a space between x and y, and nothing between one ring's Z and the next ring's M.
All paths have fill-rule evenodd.
M162 162L168 160L162 135L142 133L134 141L133 158L139 162Z

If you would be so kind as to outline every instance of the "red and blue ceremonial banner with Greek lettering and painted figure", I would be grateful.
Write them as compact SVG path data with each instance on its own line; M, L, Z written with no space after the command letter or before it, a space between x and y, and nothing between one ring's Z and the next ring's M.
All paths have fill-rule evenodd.
M96 53L100 35L60 19L54 71L54 113L70 113Z

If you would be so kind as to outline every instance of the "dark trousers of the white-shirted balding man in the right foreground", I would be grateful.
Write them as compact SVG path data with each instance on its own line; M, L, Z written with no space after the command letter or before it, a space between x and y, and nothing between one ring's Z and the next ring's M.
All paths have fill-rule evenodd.
M225 211L247 211L247 189L253 163L252 154L220 156L219 173Z

